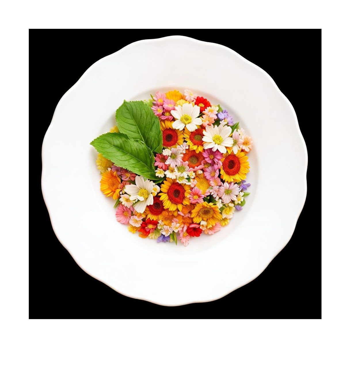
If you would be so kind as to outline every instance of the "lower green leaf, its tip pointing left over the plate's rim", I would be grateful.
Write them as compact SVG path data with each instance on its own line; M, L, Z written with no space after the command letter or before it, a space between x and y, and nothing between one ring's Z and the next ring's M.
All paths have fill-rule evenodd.
M104 133L90 143L97 152L137 175L159 182L154 170L152 151L139 140L130 139L124 133Z

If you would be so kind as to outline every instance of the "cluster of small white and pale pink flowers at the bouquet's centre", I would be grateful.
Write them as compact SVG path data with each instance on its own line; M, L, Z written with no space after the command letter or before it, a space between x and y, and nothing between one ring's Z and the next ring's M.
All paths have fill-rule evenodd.
M188 149L186 143L178 145L176 148L164 149L162 153L168 157L167 161L165 161L165 164L168 165L168 170L164 171L158 168L156 176L163 178L165 175L167 178L176 179L176 182L190 184L187 178L193 179L196 173L188 167L188 161L182 161L186 149Z

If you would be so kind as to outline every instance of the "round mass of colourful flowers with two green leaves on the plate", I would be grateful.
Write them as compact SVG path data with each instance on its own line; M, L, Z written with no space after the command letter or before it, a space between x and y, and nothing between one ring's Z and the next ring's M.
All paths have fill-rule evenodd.
M90 144L117 221L142 238L187 246L245 205L252 143L220 105L172 90L124 101L116 126Z

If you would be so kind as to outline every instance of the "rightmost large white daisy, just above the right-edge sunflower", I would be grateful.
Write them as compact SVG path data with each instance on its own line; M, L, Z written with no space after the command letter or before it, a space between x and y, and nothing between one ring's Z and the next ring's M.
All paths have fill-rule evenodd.
M215 152L219 150L221 153L226 153L226 147L232 147L233 139L229 137L232 132L231 127L222 126L206 126L203 131L203 147L204 149L212 148Z

